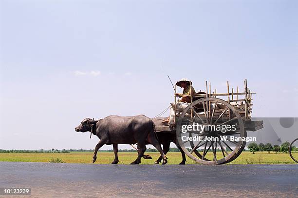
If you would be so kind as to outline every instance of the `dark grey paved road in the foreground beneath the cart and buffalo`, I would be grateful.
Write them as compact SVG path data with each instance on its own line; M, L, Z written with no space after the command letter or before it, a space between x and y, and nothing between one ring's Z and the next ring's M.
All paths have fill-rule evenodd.
M30 187L31 197L34 198L289 198L298 196L298 165L93 165L0 162L0 187Z

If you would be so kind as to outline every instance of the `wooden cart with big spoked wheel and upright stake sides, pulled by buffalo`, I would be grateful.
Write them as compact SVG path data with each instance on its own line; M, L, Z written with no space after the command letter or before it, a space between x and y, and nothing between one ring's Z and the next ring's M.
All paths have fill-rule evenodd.
M232 162L244 149L245 140L249 140L247 131L263 128L263 121L251 120L252 95L255 93L247 87L246 79L243 92L239 92L238 87L236 91L230 91L227 82L227 93L216 93L216 89L211 93L211 84L208 88L206 82L206 92L190 95L190 104L179 102L176 90L177 86L175 102L171 104L173 119L163 124L163 117L154 118L156 132L176 133L176 142L197 163Z

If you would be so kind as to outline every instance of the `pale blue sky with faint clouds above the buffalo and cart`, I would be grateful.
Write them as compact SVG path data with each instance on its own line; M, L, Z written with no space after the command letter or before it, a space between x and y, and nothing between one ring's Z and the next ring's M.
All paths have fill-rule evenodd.
M297 10L294 0L1 0L0 148L93 148L74 127L157 115L173 100L167 74L218 92L247 78L253 116L298 117Z

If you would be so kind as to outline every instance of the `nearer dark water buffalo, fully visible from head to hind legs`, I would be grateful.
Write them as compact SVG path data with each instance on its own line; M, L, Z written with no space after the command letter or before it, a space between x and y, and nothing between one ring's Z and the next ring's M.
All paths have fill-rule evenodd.
M81 124L75 127L76 132L92 132L98 136L100 141L96 145L93 154L93 163L99 148L104 144L113 145L115 159L112 164L118 163L118 144L137 144L138 157L131 164L140 164L141 157L146 151L146 144L153 145L161 154L163 164L167 164L164 154L157 138L153 121L145 115L122 117L110 115L100 120L85 118Z

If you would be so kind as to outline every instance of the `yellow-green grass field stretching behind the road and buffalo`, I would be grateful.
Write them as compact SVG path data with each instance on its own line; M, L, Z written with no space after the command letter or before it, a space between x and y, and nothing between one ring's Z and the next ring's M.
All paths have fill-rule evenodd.
M296 152L298 154L298 152ZM152 165L159 157L157 152L146 152L153 160L142 158L141 164ZM210 153L211 154L211 153ZM296 155L297 155L296 154ZM56 162L56 163L92 163L93 152L71 152L71 153L0 153L2 162ZM119 152L118 164L130 164L137 157L136 152ZM168 164L179 164L182 160L180 152L169 152L167 154ZM95 164L111 164L114 159L113 152L98 152ZM196 164L186 156L186 164ZM242 152L241 155L229 164L296 164L289 153L267 153Z

